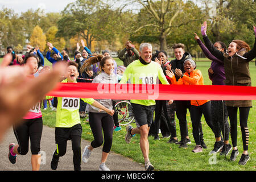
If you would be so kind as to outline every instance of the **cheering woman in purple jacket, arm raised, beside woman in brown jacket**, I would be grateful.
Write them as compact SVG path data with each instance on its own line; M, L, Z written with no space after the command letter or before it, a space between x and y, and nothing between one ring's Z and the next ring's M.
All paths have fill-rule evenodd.
M225 71L223 61L218 60L215 56L210 53L207 47L204 46L201 42L199 36L195 33L195 39L199 46L201 47L204 55L208 59L212 60L212 64L208 69L209 78L212 80L212 85L225 85ZM226 50L226 45L222 42L214 43L214 47L221 52ZM228 155L232 150L231 144L229 144L229 122L228 122L228 111L226 110L226 105L224 101L211 101L211 110L212 110L212 121L215 131L218 131L218 138L214 144L214 148L210 151L210 154L215 154L218 151L221 151L221 155ZM221 131L224 136L224 142L221 140Z

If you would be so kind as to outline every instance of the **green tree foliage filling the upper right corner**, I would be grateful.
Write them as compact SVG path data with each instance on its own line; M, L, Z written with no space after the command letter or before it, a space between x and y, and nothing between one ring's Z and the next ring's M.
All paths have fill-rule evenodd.
M215 6L205 9L205 13L209 14L208 36L213 41L222 41L227 45L233 39L241 39L252 46L254 43L252 26L256 22L255 1L214 0L212 2Z

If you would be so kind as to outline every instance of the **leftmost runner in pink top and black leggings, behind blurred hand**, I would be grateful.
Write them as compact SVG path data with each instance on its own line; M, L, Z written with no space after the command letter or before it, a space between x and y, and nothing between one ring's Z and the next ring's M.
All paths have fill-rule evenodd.
M30 72L28 77L33 78L38 71L38 57L28 55L24 59L24 64L28 65ZM28 113L23 117L21 125L13 127L15 137L18 144L10 143L9 145L9 160L11 163L16 163L17 155L26 155L28 152L28 140L31 145L31 165L33 171L39 171L40 168L40 142L43 131L42 113L40 110L40 101L34 105Z

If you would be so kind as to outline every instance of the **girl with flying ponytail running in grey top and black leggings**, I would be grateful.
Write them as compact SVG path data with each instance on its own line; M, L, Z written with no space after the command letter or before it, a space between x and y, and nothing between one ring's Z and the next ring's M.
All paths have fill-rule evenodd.
M102 84L116 84L118 82L117 76L114 74L114 63L112 57L102 55L90 57L81 68L81 71L84 71L87 67L92 64L100 63L100 68L102 72L100 75L96 76L93 79L93 83L102 83ZM112 100L96 100L100 104L104 105L108 109L113 109ZM84 153L82 154L82 161L84 163L88 162L89 156L93 148L100 147L104 142L102 149L102 157L100 164L100 171L109 171L110 169L106 167L106 160L108 158L110 149L112 147L113 139L113 117L107 114L103 110L99 110L92 105L88 105L86 110L89 111L89 124L92 129L94 140L90 143L90 146L84 148ZM104 138L102 135L102 130L104 133ZM104 141L105 140L105 141Z

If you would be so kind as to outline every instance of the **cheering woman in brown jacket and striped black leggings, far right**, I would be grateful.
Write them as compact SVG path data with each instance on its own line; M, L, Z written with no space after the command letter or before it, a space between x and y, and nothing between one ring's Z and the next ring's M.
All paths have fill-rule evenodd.
M256 39L256 28L254 26L253 30ZM201 31L203 33L205 46L209 49L210 53L212 53L213 56L217 57L218 60L221 60L224 63L226 76L225 84L233 86L251 86L249 62L256 56L256 41L254 42L253 49L250 49L250 46L243 40L233 40L229 44L228 51L222 53L221 51L218 51L218 49L214 48L206 34L207 22L204 22L203 26L201 27ZM233 145L233 151L230 156L230 160L235 161L237 155L239 154L237 148L237 111L239 109L243 154L238 164L245 165L250 159L248 154L249 129L247 126L247 120L250 107L252 107L252 102L241 100L226 101L226 106L230 120L230 134Z

